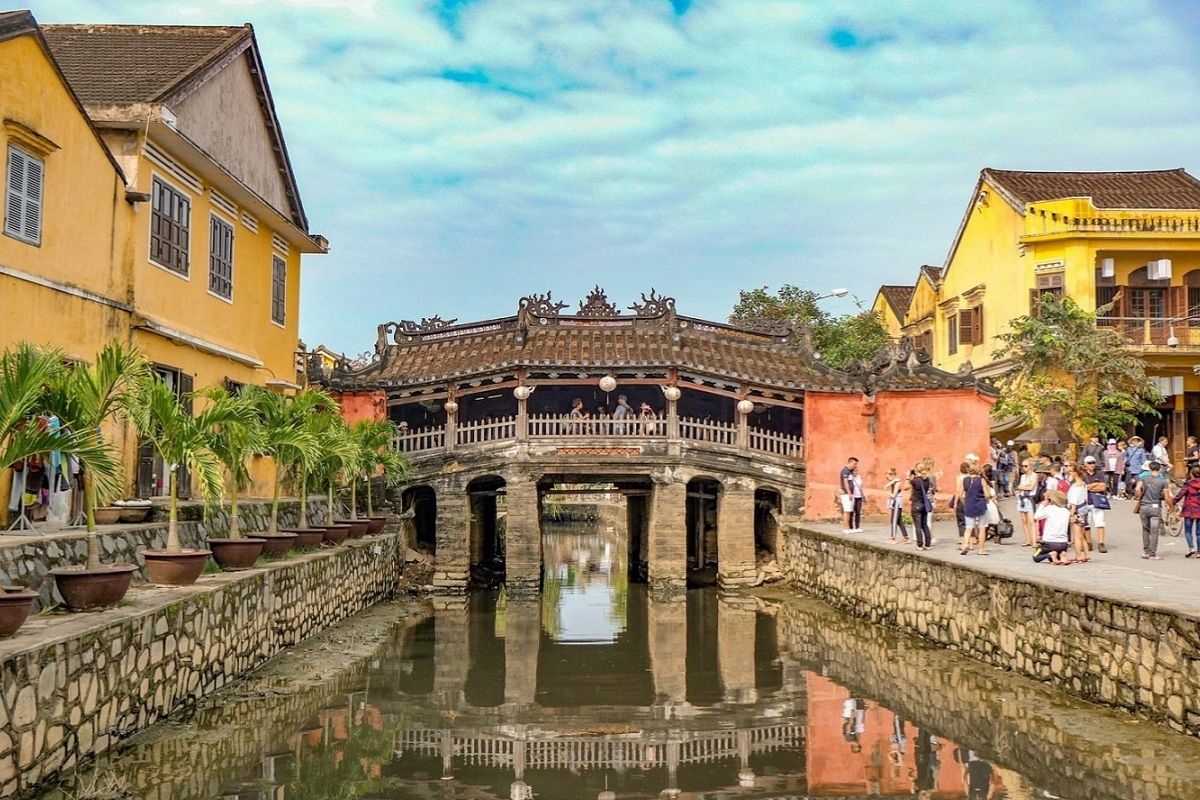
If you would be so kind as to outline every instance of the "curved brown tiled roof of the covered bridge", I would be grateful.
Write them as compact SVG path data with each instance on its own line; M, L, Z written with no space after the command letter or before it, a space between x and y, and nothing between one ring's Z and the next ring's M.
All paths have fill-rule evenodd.
M803 349L768 336L690 321L672 341L672 329L656 324L598 324L530 327L520 342L515 323L498 330L438 335L388 347L364 383L421 385L529 367L570 372L587 368L686 371L764 384L779 389L848 385L848 379L816 362Z

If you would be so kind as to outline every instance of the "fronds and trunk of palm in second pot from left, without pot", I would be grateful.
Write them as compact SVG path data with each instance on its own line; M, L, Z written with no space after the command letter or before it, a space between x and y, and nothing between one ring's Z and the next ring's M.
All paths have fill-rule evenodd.
M130 402L138 387L150 379L150 362L136 349L109 342L90 365L62 371L49 386L49 405L66 428L95 432L103 439L102 426L128 417ZM96 534L96 481L84 470L83 509L88 524L88 570L100 569Z

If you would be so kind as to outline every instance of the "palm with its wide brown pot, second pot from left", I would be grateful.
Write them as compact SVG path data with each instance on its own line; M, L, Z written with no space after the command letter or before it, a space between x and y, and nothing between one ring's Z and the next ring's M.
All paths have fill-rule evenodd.
M138 387L150 378L150 362L136 349L120 342L108 343L90 365L76 365L49 383L49 405L61 425L71 431L95 432L128 416L128 404ZM97 481L91 470L83 474L83 511L88 529L88 560L83 566L50 570L59 594L72 610L115 606L128 591L137 564L101 564L100 534L96 530Z

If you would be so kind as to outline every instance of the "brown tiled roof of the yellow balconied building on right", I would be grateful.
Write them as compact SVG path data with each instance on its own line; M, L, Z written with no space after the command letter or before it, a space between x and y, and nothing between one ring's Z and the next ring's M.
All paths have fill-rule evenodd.
M1015 205L1090 197L1098 209L1200 209L1200 181L1181 169L1130 173L1030 173L984 169Z

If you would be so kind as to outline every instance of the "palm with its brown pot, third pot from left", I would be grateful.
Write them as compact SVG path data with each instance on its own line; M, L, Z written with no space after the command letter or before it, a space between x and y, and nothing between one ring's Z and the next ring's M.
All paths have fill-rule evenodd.
M185 549L179 537L178 468L186 465L196 476L200 495L206 503L218 500L223 489L221 461L209 446L211 431L234 420L228 408L209 405L192 416L180 403L175 390L155 377L146 381L131 407L133 423L149 441L172 476L167 547L143 549L150 583L167 587L190 587L204 570L211 555L206 549Z

